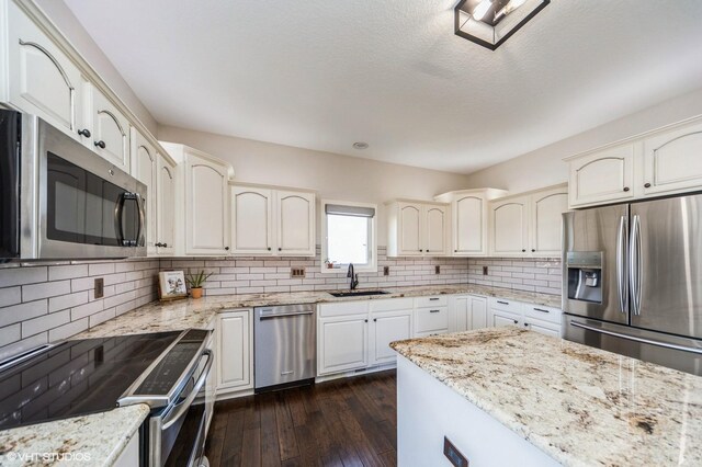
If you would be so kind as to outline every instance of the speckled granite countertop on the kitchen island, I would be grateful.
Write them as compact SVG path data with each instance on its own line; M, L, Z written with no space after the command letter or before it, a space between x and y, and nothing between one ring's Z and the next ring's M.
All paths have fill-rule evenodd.
M702 465L702 377L511 327L390 346L564 465Z

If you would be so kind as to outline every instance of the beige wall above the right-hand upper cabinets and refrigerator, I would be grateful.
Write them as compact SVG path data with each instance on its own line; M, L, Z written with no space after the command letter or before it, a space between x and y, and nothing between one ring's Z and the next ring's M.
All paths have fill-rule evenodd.
M468 186L518 193L566 182L563 158L697 115L702 115L702 89L475 172Z

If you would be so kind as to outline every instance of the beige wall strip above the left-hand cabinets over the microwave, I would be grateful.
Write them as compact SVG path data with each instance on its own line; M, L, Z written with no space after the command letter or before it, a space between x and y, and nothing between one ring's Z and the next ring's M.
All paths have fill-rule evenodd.
M134 112L136 117L156 135L156 119L136 96L129 84L112 65L107 56L90 37L80 24L72 11L61 0L35 0L36 4L54 22L56 27L78 49L80 55L98 71L98 75L112 88L112 90Z

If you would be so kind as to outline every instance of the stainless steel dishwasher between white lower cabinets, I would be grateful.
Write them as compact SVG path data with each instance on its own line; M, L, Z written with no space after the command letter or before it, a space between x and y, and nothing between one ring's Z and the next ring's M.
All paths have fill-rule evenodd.
M314 304L253 308L256 391L310 384L317 368Z

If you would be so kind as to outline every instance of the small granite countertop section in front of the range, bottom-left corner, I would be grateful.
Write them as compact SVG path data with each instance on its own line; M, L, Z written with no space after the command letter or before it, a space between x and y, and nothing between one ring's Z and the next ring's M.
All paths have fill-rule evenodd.
M148 413L139 403L0 431L0 466L111 466Z

